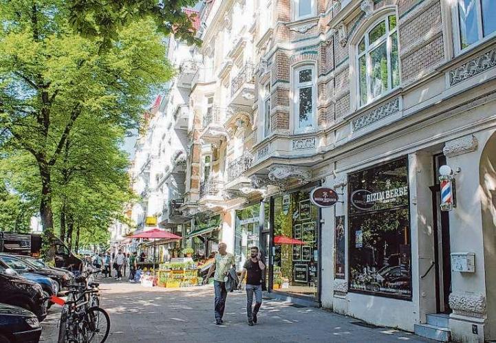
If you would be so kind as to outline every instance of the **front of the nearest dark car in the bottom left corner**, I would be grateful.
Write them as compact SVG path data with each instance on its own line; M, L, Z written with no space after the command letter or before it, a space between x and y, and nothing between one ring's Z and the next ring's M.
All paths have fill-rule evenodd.
M0 303L0 343L37 343L40 335L40 322L34 313Z

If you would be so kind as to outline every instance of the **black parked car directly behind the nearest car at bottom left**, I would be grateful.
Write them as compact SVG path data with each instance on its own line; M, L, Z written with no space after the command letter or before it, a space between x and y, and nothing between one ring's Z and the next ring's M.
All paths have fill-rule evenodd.
M0 302L32 311L38 320L47 316L47 300L38 283L0 265Z

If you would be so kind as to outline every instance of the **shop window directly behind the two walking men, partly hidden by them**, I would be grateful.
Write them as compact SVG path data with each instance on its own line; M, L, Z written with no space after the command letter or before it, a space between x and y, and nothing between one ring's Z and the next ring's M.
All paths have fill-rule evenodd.
M250 248L260 247L260 204L236 211L235 257L236 269L241 270L250 258Z

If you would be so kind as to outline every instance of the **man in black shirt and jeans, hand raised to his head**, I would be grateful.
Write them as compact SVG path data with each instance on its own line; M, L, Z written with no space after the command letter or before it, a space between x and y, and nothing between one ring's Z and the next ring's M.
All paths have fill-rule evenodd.
M248 315L248 325L253 326L257 324L257 313L262 305L262 272L266 266L260 260L260 252L258 247L251 247L250 259L247 260L241 272L241 281L246 274L246 314ZM239 282L239 289L241 289L241 281ZM252 311L253 294L255 294L255 309Z

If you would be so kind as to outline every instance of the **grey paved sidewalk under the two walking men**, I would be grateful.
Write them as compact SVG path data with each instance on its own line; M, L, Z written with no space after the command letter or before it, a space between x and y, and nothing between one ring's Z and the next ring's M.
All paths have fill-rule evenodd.
M246 322L246 294L230 293L224 324L215 325L213 287L144 288L104 280L102 307L111 318L107 342L433 342L404 331L368 328L358 320L312 307L264 300L259 324ZM56 342L60 307L43 322L41 342Z

